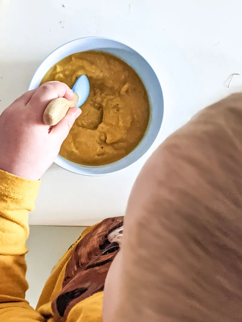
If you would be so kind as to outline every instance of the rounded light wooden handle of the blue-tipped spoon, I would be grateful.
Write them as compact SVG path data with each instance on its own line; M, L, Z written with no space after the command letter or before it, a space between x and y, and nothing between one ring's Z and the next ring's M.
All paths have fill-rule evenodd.
M78 95L75 93L75 98L72 101L64 97L53 99L46 107L43 115L43 121L46 125L53 126L66 116L70 107L75 107L78 102Z

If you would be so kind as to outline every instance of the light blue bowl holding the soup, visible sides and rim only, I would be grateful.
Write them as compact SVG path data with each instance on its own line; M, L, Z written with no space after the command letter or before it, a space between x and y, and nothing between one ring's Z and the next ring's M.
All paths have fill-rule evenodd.
M146 130L146 134L140 144L124 158L105 166L82 166L66 160L60 155L58 155L55 159L55 164L62 167L63 169L77 173L79 175L96 176L105 175L124 169L127 166L130 166L132 163L136 162L148 151L148 149L155 141L161 127L164 112L164 101L158 78L148 62L146 62L146 60L132 48L124 45L123 43L119 43L115 40L103 37L80 38L70 41L69 43L65 43L64 45L55 49L54 52L52 52L45 58L45 60L35 72L30 82L29 90L33 90L39 86L41 80L45 76L45 73L55 63L65 58L66 56L87 50L109 52L110 54L121 58L129 66L131 66L143 81L148 93L150 103L150 121Z

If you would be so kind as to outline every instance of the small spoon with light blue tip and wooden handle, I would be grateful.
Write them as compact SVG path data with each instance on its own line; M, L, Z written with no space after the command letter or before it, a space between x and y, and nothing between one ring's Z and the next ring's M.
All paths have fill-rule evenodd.
M72 101L64 97L53 99L46 107L43 121L46 125L53 126L66 116L70 107L81 107L89 95L90 84L86 75L81 75L73 86L75 97Z

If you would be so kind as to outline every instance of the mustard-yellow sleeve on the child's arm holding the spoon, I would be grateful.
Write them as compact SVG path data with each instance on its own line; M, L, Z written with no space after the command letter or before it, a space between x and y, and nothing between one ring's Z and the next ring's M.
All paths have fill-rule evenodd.
M39 185L0 170L0 321L45 321L25 300L28 212Z

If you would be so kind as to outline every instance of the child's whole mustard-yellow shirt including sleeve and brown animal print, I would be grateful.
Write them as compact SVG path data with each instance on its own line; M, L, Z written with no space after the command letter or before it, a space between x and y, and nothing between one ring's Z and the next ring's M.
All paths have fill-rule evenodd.
M123 219L119 217L106 220L103 224L87 228L82 233L55 266L45 284L37 308L34 309L25 300L28 288L25 279L25 254L29 234L28 212L34 209L39 185L40 181L25 180L0 170L0 321L101 322L105 274L119 250L118 239L121 231L116 231L121 229ZM96 231L95 234L100 233L100 236L99 243L93 245L91 250L92 259L85 262L83 255L82 262L77 263L78 260L75 260L80 256L80 252L82 253L82 249L77 246L93 231ZM112 239L108 240L107 236L112 236ZM90 241L91 236L86 237L85 245ZM86 251L90 251L90 248ZM72 267L73 260L75 265ZM39 265L45 263L40 262ZM80 285L73 289L73 285L76 285L75 274L83 276L88 269L101 274L101 277L97 278L96 289L90 290L88 285L91 281L88 285ZM79 297L79 300L76 297Z

